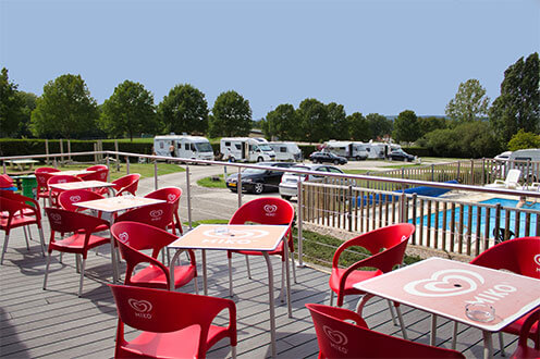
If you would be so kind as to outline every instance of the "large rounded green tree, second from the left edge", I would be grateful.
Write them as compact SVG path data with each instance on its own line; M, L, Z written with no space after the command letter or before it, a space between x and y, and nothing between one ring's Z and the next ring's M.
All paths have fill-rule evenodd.
M99 117L81 75L61 75L44 86L32 112L32 133L37 137L82 137L93 133Z

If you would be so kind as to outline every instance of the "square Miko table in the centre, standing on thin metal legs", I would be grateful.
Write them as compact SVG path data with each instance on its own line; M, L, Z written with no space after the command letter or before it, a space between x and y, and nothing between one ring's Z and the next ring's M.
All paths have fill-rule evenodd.
M207 288L206 250L254 250L262 252L268 268L268 297L270 306L270 337L272 356L275 357L275 311L273 298L273 271L270 262L269 251L274 250L287 233L287 225L240 225L240 224L201 224L187 232L182 237L170 244L169 248L179 249L171 263L184 249L201 249L202 257L202 281L205 295ZM287 247L285 245L285 247ZM285 263L289 263L289 251L285 250ZM287 307L289 317L292 318L291 290L289 265L286 267L287 280ZM171 284L174 285L174 269L171 267ZM171 288L173 289L173 288Z

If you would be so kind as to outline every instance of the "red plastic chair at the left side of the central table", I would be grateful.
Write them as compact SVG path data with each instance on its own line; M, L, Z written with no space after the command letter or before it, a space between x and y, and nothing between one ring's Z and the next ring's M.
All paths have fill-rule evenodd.
M169 203L165 203L169 205ZM170 206L170 205L169 205ZM126 285L136 285L159 289L172 289L170 269L157 258L160 250L179 237L160 228L137 222L116 222L111 227L111 234L120 247L120 253L127 263L125 270ZM151 249L151 257L140 250ZM174 265L174 288L180 288L194 280L195 290L197 287L197 267L195 253L189 253L188 265ZM134 273L139 263L150 265Z

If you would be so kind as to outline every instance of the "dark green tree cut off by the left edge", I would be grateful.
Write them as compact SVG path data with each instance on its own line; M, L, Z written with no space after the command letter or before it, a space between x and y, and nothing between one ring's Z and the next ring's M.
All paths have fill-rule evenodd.
M24 100L19 95L17 85L10 83L8 69L0 74L0 136L13 136L24 117Z

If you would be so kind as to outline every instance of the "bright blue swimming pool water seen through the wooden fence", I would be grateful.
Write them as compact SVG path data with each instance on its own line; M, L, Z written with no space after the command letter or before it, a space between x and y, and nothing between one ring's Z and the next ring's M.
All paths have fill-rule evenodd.
M483 203L483 205L496 205L496 203L501 203L502 207L505 207L505 208L515 208L516 205L517 205L517 200L514 200L514 199L504 199L504 198L491 198L491 199L488 199L488 200L484 200L484 201L481 201L480 203ZM540 211L540 203L531 203L529 202L529 205L532 205L532 206L524 206L523 209L531 209L531 210L537 210L537 211ZM471 222L468 223L468 216L469 216L469 209L471 209L472 211L472 219L471 219ZM455 209L455 222L458 223L459 221L459 216L461 216L461 210L462 208L461 207L456 207ZM463 221L464 221L464 228L468 228L468 227L471 227L471 231L472 231L472 234L476 233L477 231L477 214L478 214L478 211L480 210L480 233L482 235L484 235L486 233L486 208L482 208L482 207L478 207L478 206L466 206L464 209L463 209ZM500 223L499 223L499 226L500 227L505 227L505 223L506 223L506 214L507 214L507 211L505 210L502 210L501 211L501 219L500 219ZM511 211L510 212L510 230L512 232L514 232L516 234L516 237L523 237L525 236L525 219L526 219L526 215L525 213L519 213L519 233L516 233L516 230L515 230L515 223L516 223L516 212L515 211ZM439 212L439 227L442 228L442 219L443 219L443 212L440 211ZM452 215L452 211L451 210L447 210L446 211L446 230L450 230L451 228L451 215ZM493 236L493 228L495 227L495 210L494 209L491 209L490 210L490 218L489 218L489 237L492 237ZM530 225L529 225L529 234L532 235L533 233L536 233L536 226L537 226L537 221L538 221L538 215L537 214L531 214L530 215ZM413 221L409 221L409 222L413 222ZM428 223L428 216L425 215L424 216L424 225L426 225ZM431 225L434 225L435 223L435 213L431 214ZM417 218L416 219L416 224L420 224L420 218ZM466 232L466 230L464 230Z

